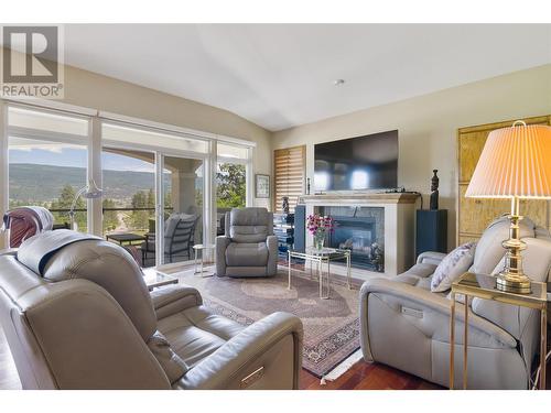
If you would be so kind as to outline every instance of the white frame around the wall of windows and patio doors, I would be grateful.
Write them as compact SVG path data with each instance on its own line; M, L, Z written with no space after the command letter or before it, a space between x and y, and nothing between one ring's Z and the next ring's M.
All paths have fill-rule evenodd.
M85 119L88 122L88 133L86 135L71 134L63 132L51 132L46 130L37 130L33 128L11 127L8 124L9 107L18 107L31 111L52 113L56 116L66 116L73 118ZM169 135L182 137L184 139L201 140L207 144L205 152L196 152L188 150L165 149L156 145L139 145L139 144L122 144L118 141L110 141L102 137L102 124L112 123L127 128L141 129L150 132L158 132ZM204 163L204 196L203 203L205 208L205 242L212 243L216 237L216 167L218 162L237 163L246 166L246 205L253 205L253 170L252 155L257 145L253 141L227 137L210 132L203 132L190 128L182 128L145 119L133 118L123 115L117 115L106 111L100 111L91 108L73 106L64 102L50 100L33 100L26 102L18 99L0 99L0 209L6 213L9 208L9 137L40 139L58 143L72 143L86 145L87 165L86 178L94 178L98 186L102 184L102 162L101 152L104 146L120 148L128 150L145 150L148 152L162 152L164 155L184 156L199 159ZM246 157L218 157L217 144L235 145L247 149ZM155 188L156 193L156 188ZM213 207L215 209L213 209ZM87 199L87 224L88 232L101 236L102 233L102 203L101 199ZM206 238L205 238L206 236ZM7 236L0 236L0 248L6 243Z

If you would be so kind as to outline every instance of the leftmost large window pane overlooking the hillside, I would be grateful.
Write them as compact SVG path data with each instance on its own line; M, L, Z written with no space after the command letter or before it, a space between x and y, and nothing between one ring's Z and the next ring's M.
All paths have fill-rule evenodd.
M9 208L43 206L68 228L76 193L88 175L88 120L8 108ZM78 230L88 230L86 199L75 205Z

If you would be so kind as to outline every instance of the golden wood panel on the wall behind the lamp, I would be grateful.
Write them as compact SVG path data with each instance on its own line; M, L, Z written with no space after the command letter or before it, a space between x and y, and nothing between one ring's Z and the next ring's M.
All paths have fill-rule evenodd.
M457 242L476 241L484 229L501 214L510 211L507 199L465 198L468 183L475 171L489 132L512 126L514 119L506 122L488 123L461 128L457 131ZM551 115L521 119L527 124L551 124ZM521 200L520 214L533 219L551 230L551 204L548 200Z

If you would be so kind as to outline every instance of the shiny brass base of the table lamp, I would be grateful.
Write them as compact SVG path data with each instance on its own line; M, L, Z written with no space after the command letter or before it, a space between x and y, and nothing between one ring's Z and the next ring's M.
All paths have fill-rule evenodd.
M505 268L497 275L496 289L508 293L530 294L530 279L522 271L522 257L520 251L526 249L526 243L519 238L520 228L518 222L522 219L519 215L519 198L511 200L511 215L509 215L511 226L509 239L503 246L507 250L505 254Z

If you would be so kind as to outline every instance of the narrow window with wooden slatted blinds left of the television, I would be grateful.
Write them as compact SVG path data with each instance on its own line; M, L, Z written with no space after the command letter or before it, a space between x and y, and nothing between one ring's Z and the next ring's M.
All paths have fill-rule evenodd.
M306 146L278 149L273 152L274 211L282 213L283 197L294 211L299 196L304 194Z

